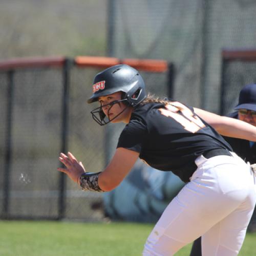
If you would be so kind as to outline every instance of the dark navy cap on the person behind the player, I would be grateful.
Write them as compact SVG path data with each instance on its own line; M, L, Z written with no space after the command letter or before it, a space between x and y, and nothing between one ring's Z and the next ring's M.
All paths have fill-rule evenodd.
M256 84L247 84L240 94L235 110L246 109L256 111Z

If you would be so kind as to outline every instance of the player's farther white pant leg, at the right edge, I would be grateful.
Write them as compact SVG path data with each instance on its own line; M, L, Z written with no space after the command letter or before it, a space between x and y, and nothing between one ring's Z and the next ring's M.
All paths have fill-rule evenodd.
M241 162L241 159L237 158L237 161ZM244 179L245 181L247 179L247 196L238 208L232 211L216 225L211 227L205 234L203 234L203 256L235 256L238 255L242 247L246 229L255 207L256 188L253 173L247 169L241 174L240 170L241 169L234 169L233 175L237 176L237 178L241 177L242 175L240 179ZM235 193L239 193L239 191L236 192L231 190L230 192L227 192L227 194L230 194L230 196L234 196Z

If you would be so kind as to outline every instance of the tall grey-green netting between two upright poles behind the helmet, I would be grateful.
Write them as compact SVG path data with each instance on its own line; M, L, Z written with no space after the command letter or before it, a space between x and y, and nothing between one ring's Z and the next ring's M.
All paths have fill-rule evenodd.
M114 2L111 54L174 62L175 98L199 106L204 11L201 1ZM131 6L135 6L132 12ZM164 86L156 82L157 93L166 93Z

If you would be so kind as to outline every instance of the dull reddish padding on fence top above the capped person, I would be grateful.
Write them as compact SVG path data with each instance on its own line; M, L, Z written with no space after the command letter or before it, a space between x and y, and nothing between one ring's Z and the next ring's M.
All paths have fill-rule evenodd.
M256 49L224 49L222 50L222 58L225 60L256 60Z

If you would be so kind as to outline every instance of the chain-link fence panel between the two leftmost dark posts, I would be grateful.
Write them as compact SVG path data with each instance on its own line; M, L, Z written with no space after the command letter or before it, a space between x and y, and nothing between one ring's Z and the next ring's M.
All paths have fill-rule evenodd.
M16 71L13 84L9 215L56 217L62 72Z

